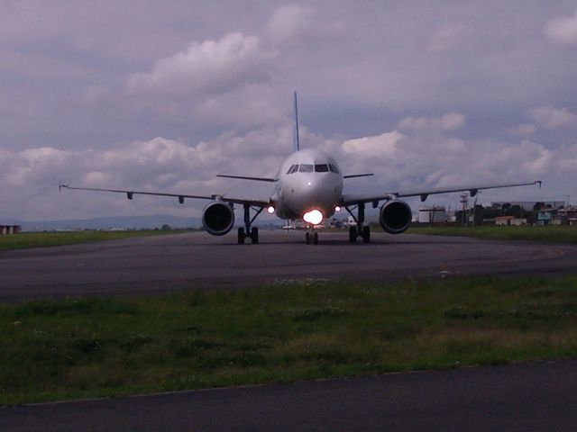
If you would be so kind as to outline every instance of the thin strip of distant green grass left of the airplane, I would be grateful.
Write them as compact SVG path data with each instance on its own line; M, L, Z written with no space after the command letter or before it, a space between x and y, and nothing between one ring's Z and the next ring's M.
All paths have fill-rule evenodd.
M20 232L14 235L0 236L0 250L74 245L78 243L92 243L95 241L114 240L118 238L147 237L180 232L185 231L143 229L138 231Z

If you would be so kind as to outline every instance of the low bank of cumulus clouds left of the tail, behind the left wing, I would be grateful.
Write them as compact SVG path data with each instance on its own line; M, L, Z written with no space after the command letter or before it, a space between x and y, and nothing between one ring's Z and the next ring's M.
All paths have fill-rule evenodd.
M114 193L58 193L60 182L86 187L206 195L228 193L267 199L271 191L261 184L250 184L247 192L246 183L219 179L215 175L273 176L289 149L288 126L279 130L255 130L246 135L225 133L195 145L182 139L158 137L118 144L104 151L48 147L0 150L0 182L12 191L19 191L5 197L8 211L2 216L38 220L159 212L182 214L183 211L197 215L206 204L190 200L186 206L179 206L174 200L145 196L127 202L124 195Z

